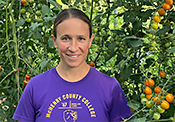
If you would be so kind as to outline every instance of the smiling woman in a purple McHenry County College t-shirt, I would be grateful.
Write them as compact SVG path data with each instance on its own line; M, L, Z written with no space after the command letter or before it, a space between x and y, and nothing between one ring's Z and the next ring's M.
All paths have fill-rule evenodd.
M55 19L52 39L58 66L27 84L13 119L22 122L120 122L131 116L119 85L86 63L94 34L89 18L74 8Z

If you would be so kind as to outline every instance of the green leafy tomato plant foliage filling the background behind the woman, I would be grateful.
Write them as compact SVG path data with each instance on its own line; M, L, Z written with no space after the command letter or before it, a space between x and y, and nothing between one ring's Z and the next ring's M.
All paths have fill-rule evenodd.
M20 0L0 1L0 120L12 120L25 85L25 75L35 76L59 63L51 39L53 21L64 8L75 7L92 20L95 39L87 62L115 77L134 109L129 121L158 121L141 104L143 82L175 94L175 10L166 11L159 28L151 23L164 0ZM22 12L21 10L26 12ZM30 20L31 19L31 20ZM166 78L159 76L159 71ZM154 87L153 87L154 88ZM152 88L152 89L153 89ZM155 94L154 94L155 95ZM156 105L154 106L156 108ZM154 108L153 107L153 108ZM175 119L175 102L159 121Z

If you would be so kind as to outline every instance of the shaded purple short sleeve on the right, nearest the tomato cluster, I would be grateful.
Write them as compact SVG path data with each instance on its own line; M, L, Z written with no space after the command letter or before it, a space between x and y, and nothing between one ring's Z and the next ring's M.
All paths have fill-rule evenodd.
M120 122L132 115L130 107L127 105L125 94L117 82L112 91L112 106L110 109L110 122Z

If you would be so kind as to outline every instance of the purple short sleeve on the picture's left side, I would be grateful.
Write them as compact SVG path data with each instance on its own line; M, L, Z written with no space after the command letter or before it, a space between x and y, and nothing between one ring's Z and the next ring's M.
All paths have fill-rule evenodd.
M32 84L29 82L21 95L13 119L22 122L34 122L35 111L33 106Z

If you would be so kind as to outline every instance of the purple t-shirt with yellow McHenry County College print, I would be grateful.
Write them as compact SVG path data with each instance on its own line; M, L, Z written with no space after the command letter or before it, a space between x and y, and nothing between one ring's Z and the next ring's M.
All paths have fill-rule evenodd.
M52 68L27 84L13 119L22 122L120 122L131 116L120 84L91 67L78 82Z

